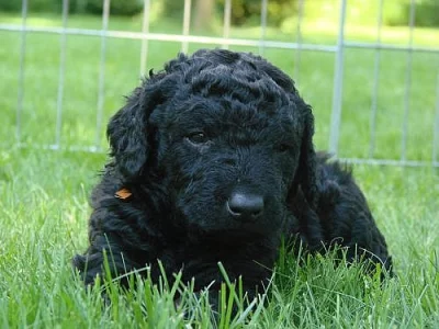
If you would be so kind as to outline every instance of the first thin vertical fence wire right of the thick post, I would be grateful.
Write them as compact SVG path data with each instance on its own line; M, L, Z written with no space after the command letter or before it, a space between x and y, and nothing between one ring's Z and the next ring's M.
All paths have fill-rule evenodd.
M376 26L376 44L381 44L381 31L383 26L383 0L379 0L378 26ZM373 86L372 86L372 103L370 118L370 141L369 141L369 158L372 159L375 152L376 141L376 111L378 97L380 90L380 71L381 71L381 49L375 49L375 61L373 67Z

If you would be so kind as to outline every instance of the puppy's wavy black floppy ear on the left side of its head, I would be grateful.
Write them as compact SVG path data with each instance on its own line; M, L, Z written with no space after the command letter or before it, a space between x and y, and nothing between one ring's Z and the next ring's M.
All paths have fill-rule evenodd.
M149 146L147 141L147 114L143 88L136 88L106 128L111 156L116 170L126 180L140 174L146 163Z

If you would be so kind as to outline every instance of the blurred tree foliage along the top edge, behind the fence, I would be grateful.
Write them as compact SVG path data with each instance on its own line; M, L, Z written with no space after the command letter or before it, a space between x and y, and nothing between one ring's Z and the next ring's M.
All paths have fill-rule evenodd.
M386 25L408 25L410 20L410 3L413 0L384 1L383 23ZM164 18L181 19L184 0L154 0L161 7ZM305 16L327 5L334 5L335 0L305 0ZM373 5L371 5L373 2ZM415 25L439 26L439 0L414 0ZM143 10L143 0L111 0L110 12L113 15L135 15ZM338 2L337 2L338 3ZM209 5L207 5L209 4ZM61 12L61 0L29 0L30 12ZM378 5L373 0L349 0L348 10L357 10L363 15L371 13L371 8ZM21 11L22 1L0 0L0 11ZM70 13L101 14L103 0L69 0ZM192 0L193 25L198 29L209 29L212 22L223 20L225 0ZM267 0L268 24L281 26L297 14L299 0ZM232 24L259 24L262 0L232 0Z

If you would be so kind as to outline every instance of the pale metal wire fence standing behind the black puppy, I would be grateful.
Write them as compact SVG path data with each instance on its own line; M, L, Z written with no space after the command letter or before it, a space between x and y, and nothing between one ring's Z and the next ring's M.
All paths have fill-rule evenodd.
M260 37L259 38L236 38L230 37L230 16L232 16L232 0L225 0L224 2L224 21L223 21L223 35L222 36L202 36L192 35L190 33L191 23L191 0L184 0L184 11L183 11L183 24L180 34L169 34L169 33L153 33L149 31L150 27L150 5L151 1L144 1L144 12L142 21L142 31L120 31L109 29L110 19L110 1L103 0L103 11L102 11L102 25L101 29L82 29L82 27L69 27L69 3L68 0L63 0L63 13L61 13L61 26L35 26L27 24L29 18L29 0L22 1L22 13L21 13L21 24L7 24L0 23L0 32L14 32L20 34L20 65L18 75L18 101L16 101L16 141L22 146L31 147L43 147L49 149L61 149L64 147L71 150L87 150L87 151L104 151L105 148L102 147L102 132L104 124L104 94L105 94L105 79L108 79L105 70L105 58L108 56L108 42L109 39L133 39L140 43L139 50L139 72L144 75L148 67L148 54L149 54L149 43L150 42L177 42L181 43L181 50L188 52L191 44L196 45L221 45L223 48L228 48L232 46L244 46L254 47L263 55L267 49L288 49L292 52L294 57L294 77L300 76L300 63L301 58L306 54L306 52L316 53L328 53L334 55L334 76L331 88L331 112L330 112L330 128L328 134L328 149L330 152L340 156L340 129L342 125L342 109L344 109L344 95L346 93L345 80L349 72L346 72L346 52L348 49L364 49L373 50L371 58L373 58L373 72L371 81L370 91L370 106L369 106L369 145L367 146L367 155L362 157L356 157L350 155L342 155L341 158L354 163L373 163L373 164L395 164L395 166L434 166L439 167L439 42L436 41L431 43L431 46L423 46L414 43L415 33L415 12L416 3L414 0L410 2L410 13L409 13L409 25L408 29L408 43L406 45L390 44L382 41L383 31L383 0L378 0L378 15L376 15L376 35L374 42L358 42L346 38L347 29L347 8L348 0L340 0L338 5L338 32L335 44L324 44L324 43L309 43L305 42L302 33L302 24L304 19L304 8L305 0L297 1L297 20L295 26L295 39L294 41L277 41L269 39L267 37L268 26L268 1L261 0L261 13L260 13ZM24 100L25 100L25 80L26 80L26 52L27 52L27 35L32 34L47 34L47 35L59 35L59 68L58 68L58 83L57 83L57 95L56 95L56 124L55 124L55 143L47 143L43 145L36 145L23 141L23 117L25 115L24 111ZM69 36L91 36L100 38L100 60L99 60L99 78L98 78L98 97L95 104L95 134L94 140L90 140L89 145L75 145L69 144L68 146L63 145L63 122L64 122L64 98L65 98L65 84L66 84L66 53L67 53L67 38ZM397 158L385 158L375 157L375 148L380 141L380 136L378 134L376 121L380 112L379 94L380 90L386 88L380 84L380 75L383 67L383 52L396 52L406 55L405 63L405 77L404 77L404 100L402 109L402 127L401 127L401 154ZM414 54L431 54L434 60L437 65L432 67L436 68L436 88L434 88L435 101L429 103L429 109L415 109L415 111L428 111L432 123L429 120L429 126L423 127L425 132L429 132L427 140L427 146L431 149L428 157L415 156L414 158L407 156L407 138L409 137L409 121L410 107L413 104L412 98L412 87L416 82L413 78L414 72ZM168 60L169 58L164 58ZM275 64L275 63L274 63ZM293 78L294 78L293 77ZM329 87L328 87L329 88ZM420 113L420 115L424 112ZM430 138L431 137L431 138ZM426 147L425 145L419 147Z

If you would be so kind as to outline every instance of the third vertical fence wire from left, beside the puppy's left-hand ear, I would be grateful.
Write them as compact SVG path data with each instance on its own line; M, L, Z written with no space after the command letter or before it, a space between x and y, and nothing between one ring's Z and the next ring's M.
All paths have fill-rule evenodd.
M97 111L97 134L94 138L94 148L100 149L101 129L103 121L103 104L105 98L105 59L106 59L106 31L109 30L110 0L103 1L102 10L102 31L101 31L101 56L99 66L98 82L98 111Z

